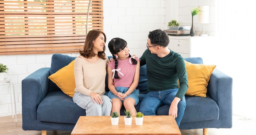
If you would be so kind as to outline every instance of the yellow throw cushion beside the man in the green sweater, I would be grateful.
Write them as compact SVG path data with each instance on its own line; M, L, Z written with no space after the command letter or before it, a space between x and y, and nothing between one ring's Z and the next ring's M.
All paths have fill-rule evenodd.
M185 61L189 89L185 95L206 97L208 82L216 65L192 64Z

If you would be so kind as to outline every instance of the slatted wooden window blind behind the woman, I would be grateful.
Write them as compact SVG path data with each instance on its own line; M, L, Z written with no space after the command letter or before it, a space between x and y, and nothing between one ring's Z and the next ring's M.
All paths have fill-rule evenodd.
M103 0L0 0L0 55L78 53L92 29L103 31Z

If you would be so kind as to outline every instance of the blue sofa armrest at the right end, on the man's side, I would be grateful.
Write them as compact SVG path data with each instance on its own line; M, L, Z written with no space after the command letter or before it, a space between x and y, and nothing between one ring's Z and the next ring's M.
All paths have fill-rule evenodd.
M232 84L233 79L214 69L207 87L207 96L211 97L220 109L220 127L232 127Z

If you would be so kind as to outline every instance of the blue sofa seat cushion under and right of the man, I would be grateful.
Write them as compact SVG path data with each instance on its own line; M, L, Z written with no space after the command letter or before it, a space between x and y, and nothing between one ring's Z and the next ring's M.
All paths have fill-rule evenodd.
M219 119L218 104L211 97L186 96L185 98L186 108L181 123ZM159 107L157 115L168 115L169 107L168 105Z

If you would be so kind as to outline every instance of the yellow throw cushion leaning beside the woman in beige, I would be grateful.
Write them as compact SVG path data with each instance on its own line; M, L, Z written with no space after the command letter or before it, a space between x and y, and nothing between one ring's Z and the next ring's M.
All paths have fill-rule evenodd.
M76 88L74 63L75 60L48 77L61 89L61 91L63 91L63 93L70 97L73 97L75 93L74 89Z

